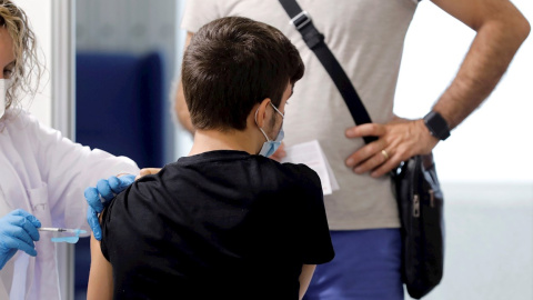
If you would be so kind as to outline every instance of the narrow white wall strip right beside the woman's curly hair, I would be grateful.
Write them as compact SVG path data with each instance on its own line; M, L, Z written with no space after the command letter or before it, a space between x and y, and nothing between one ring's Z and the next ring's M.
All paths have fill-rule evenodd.
M30 24L37 34L38 46L40 48L41 61L47 70L41 79L39 92L34 98L26 97L23 107L29 109L42 123L51 126L52 123L52 102L51 102L51 51L52 51L52 2L51 0L14 0L20 6L30 20Z

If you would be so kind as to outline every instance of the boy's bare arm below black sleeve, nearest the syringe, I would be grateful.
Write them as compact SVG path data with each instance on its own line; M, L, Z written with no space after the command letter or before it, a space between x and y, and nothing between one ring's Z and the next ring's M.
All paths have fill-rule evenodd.
M91 270L87 287L88 300L113 298L113 269L111 263L103 257L100 241L91 234Z

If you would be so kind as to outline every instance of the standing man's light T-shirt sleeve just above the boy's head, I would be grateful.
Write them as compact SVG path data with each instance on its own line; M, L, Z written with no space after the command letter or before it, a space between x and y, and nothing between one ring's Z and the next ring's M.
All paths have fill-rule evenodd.
M222 2L222 3L221 3ZM181 28L189 32L197 32L202 26L225 17L221 11L221 0L190 0L187 1Z

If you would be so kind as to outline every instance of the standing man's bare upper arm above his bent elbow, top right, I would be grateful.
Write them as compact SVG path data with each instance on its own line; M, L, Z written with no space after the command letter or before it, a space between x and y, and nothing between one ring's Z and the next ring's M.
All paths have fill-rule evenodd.
M505 22L520 29L529 23L509 0L432 0L438 7L477 31L490 22Z

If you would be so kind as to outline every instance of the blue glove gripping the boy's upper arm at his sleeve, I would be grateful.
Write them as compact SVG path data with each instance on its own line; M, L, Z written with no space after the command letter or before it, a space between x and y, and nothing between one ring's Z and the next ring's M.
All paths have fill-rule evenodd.
M112 176L107 180L100 179L95 188L89 187L86 189L84 196L89 203L87 221L89 222L97 240L102 239L102 229L100 228L98 213L102 212L103 208L109 204L109 201L111 201L118 193L125 190L125 188L133 183L133 181L135 181L135 176L132 174L121 177Z

